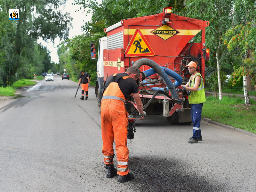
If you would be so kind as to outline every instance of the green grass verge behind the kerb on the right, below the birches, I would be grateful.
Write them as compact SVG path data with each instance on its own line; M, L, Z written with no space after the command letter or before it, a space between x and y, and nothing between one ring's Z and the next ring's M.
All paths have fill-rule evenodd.
M235 95L224 96L222 100L210 96L204 102L202 117L256 133L256 102L250 100L250 103L245 105Z

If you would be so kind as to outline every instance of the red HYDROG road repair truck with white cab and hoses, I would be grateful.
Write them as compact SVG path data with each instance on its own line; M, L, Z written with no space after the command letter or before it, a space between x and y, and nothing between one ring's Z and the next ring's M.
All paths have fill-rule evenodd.
M188 64L194 61L204 79L205 27L209 21L175 15L172 7L143 17L124 19L105 28L107 37L99 41L95 94L98 105L108 76L123 73L130 66L140 68L140 97L148 115L163 114L170 124L191 124L191 106L186 84L190 74ZM136 108L132 96L126 102L130 136L135 131ZM133 131L131 131L133 130Z

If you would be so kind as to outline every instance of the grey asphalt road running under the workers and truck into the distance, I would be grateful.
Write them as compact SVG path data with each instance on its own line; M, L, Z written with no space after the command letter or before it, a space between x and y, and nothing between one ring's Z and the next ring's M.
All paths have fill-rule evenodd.
M161 115L128 140L135 179L107 179L94 87L84 101L76 88L55 75L1 105L0 191L256 191L256 138L202 122L203 141L188 144L192 125Z

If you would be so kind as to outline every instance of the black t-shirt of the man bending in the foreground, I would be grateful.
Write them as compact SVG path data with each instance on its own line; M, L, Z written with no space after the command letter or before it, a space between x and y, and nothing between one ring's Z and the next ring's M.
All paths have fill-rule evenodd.
M117 80L119 78L117 81L118 86L119 86L121 92L124 94L124 98L128 99L132 93L139 92L139 87L133 78L127 78L127 79L120 78L120 77L124 77L124 76L129 76L129 75L127 73L118 73L115 76L115 80ZM105 83L104 91L107 89L108 85L111 82L115 82L115 81L112 81L112 79L113 79L113 75L108 77L108 79ZM104 91L103 91L103 93L104 93Z

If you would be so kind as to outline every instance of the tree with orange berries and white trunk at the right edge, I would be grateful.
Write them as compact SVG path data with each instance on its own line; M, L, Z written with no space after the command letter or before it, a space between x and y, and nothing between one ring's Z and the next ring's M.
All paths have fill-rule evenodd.
M233 1L230 4L230 16L232 26L223 34L224 44L236 58L240 58L240 66L234 68L233 85L241 78L244 81L245 104L250 104L249 94L247 92L247 76L255 86L256 81L256 2L254 0Z

